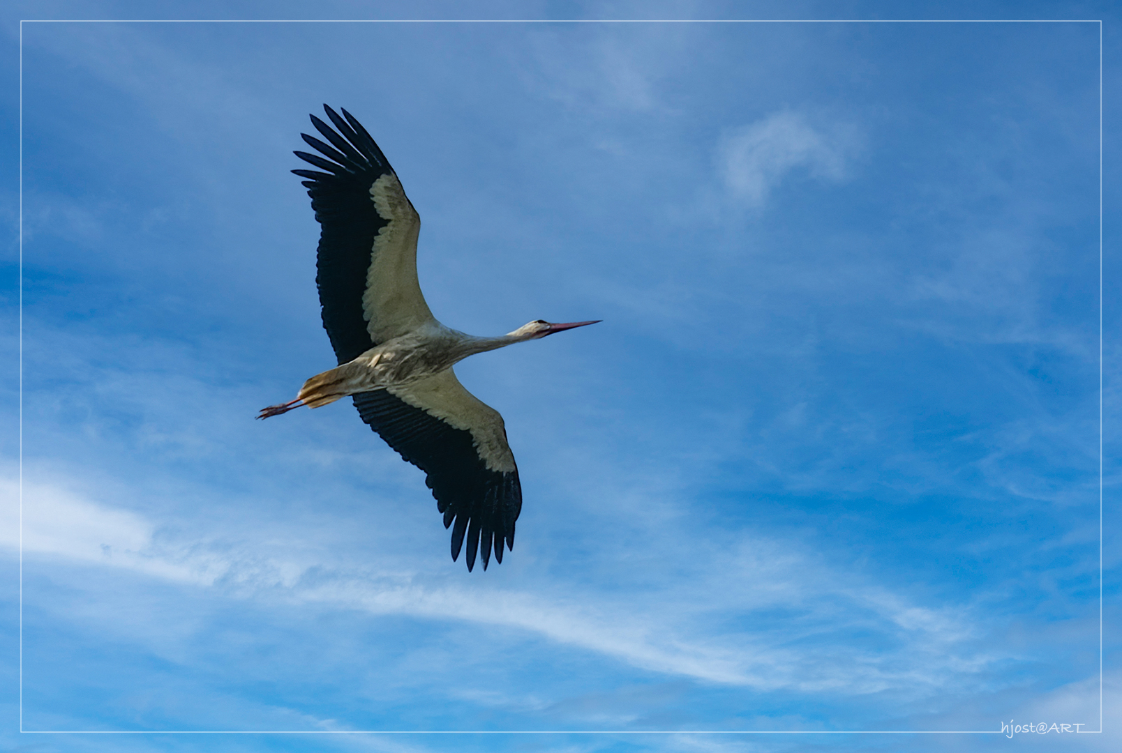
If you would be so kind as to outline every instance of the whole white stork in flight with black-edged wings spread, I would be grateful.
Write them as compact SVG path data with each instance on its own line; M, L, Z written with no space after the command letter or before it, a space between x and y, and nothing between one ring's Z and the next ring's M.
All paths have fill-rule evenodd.
M487 569L493 546L499 563L504 543L514 546L522 486L503 417L463 389L452 364L596 322L537 319L498 337L473 337L438 322L417 283L421 217L366 129L346 110L340 118L323 109L338 132L315 115L312 124L334 148L301 133L327 159L295 155L325 171L293 173L307 178L303 185L322 226L315 283L340 365L312 376L295 400L269 406L258 418L353 396L362 420L425 472L444 528L454 523L452 560L467 536L468 570L479 548Z

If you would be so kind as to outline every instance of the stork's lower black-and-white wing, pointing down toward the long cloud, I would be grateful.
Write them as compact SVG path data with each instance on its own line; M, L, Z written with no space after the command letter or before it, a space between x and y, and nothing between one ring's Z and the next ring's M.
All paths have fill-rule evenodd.
M362 420L427 474L444 528L452 527L452 559L467 537L469 570L477 548L484 569L493 545L502 563L504 542L514 547L522 486L498 411L463 389L451 369L353 397Z

